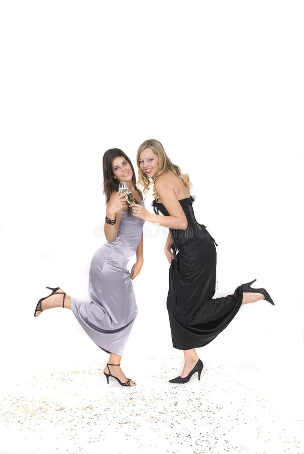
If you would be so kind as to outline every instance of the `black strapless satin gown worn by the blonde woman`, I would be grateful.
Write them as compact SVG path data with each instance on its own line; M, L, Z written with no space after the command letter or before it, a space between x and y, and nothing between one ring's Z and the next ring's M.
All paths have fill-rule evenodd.
M189 350L209 344L231 322L242 304L238 287L233 295L212 298L216 286L216 247L205 225L195 219L193 197L179 200L187 217L186 230L170 229L174 259L169 269L169 313L173 347ZM162 203L154 211L169 216Z

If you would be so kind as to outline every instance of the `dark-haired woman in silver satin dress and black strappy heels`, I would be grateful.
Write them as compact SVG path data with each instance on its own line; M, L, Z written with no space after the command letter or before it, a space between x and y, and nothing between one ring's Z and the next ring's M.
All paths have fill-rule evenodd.
M71 298L57 288L47 287L52 293L41 298L35 309L38 317L45 309L71 309L91 339L110 354L104 374L116 378L122 386L135 386L120 368L120 360L137 307L132 279L143 264L142 226L144 221L132 215L126 194L119 194L119 182L125 182L134 200L143 205L142 194L136 187L134 168L125 153L113 148L104 154L104 193L107 201L105 236L108 240L93 255L89 274L90 301ZM136 253L131 272L127 263Z

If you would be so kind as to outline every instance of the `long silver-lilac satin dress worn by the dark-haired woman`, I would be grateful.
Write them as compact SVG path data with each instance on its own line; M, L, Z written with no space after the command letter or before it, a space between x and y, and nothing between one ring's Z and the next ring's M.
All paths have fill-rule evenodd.
M143 204L143 202L139 202ZM122 355L137 315L127 263L136 252L144 221L127 209L116 239L93 255L90 301L71 299L71 309L91 339L108 353Z

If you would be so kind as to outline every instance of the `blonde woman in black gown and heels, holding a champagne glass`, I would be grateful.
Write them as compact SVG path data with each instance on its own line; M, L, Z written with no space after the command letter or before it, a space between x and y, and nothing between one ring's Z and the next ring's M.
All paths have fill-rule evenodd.
M195 372L200 379L203 368L195 348L209 344L223 331L242 304L262 299L274 303L265 289L250 287L256 279L239 286L233 295L213 298L217 244L195 219L188 175L181 173L155 139L140 145L137 164L144 191L154 183L155 214L132 204L133 215L170 229L165 245L170 263L167 309L173 347L184 351L185 364L181 375L169 381L186 383Z

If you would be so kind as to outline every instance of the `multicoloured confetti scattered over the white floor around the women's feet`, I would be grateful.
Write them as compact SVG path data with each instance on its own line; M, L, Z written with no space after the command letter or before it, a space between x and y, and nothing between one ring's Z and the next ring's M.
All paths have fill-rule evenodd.
M180 371L174 363L149 358L134 388L107 385L96 362L21 377L3 388L0 452L304 452L302 415L286 412L272 377L254 362L209 362L200 381L195 374L185 385L168 383Z

